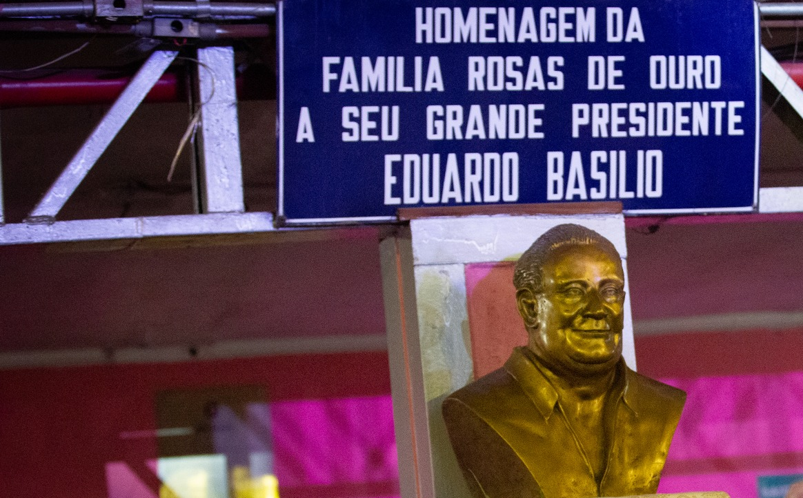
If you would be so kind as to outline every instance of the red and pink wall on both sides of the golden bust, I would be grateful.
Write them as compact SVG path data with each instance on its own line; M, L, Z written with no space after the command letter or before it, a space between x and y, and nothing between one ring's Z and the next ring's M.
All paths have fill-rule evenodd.
M801 350L800 329L637 337L639 370L688 393L659 491L756 498L803 472ZM108 463L157 489L155 440L120 437L156 428L156 392L255 384L283 498L397 496L385 353L0 372L3 495L107 498Z

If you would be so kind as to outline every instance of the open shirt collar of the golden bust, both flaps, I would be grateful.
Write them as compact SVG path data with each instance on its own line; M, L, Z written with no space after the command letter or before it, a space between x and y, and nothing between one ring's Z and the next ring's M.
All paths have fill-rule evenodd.
M524 346L513 349L513 353L504 364L504 369L516 379L516 382L519 383L521 389L524 390L524 393L527 394L527 397L530 398L530 401L536 406L536 409L544 419L548 419L552 412L555 411L560 394L544 376L544 373L536 365L535 358L531 358L531 355L534 356ZM625 402L624 404L630 410L633 410L638 417L638 412L635 410L634 384L628 382L631 370L625 365L624 359L619 360L616 369L618 370L618 375L613 389L618 393L614 395L621 397Z

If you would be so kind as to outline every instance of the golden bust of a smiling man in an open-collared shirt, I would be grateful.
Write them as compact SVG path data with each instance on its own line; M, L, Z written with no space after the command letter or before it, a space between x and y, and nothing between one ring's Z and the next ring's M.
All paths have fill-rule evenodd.
M654 493L686 394L622 359L622 259L560 225L516 263L528 344L450 394L446 429L476 498Z

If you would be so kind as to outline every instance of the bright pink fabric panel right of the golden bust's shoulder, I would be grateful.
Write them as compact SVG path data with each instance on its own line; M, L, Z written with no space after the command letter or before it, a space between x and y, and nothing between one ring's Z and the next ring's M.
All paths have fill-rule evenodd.
M756 478L803 471L803 372L665 378L687 392L660 492L756 498Z

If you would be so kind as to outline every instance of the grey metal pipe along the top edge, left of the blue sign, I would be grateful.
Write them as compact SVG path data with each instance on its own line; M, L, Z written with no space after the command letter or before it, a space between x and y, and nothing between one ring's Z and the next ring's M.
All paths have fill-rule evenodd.
M273 3L256 2L143 2L145 17L267 18L275 15ZM0 3L0 18L92 17L95 6L89 0L75 2Z

